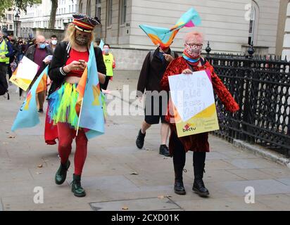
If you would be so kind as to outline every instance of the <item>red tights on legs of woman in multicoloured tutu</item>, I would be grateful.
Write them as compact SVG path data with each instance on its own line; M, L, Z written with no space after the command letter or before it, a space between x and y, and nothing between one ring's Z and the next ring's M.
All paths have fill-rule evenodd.
M58 123L58 154L61 157L61 163L65 164L68 161L75 138L77 146L75 150L75 174L81 175L84 161L87 158L87 136L84 134L84 130L79 130L77 136L75 134L75 129L71 129L69 124Z

